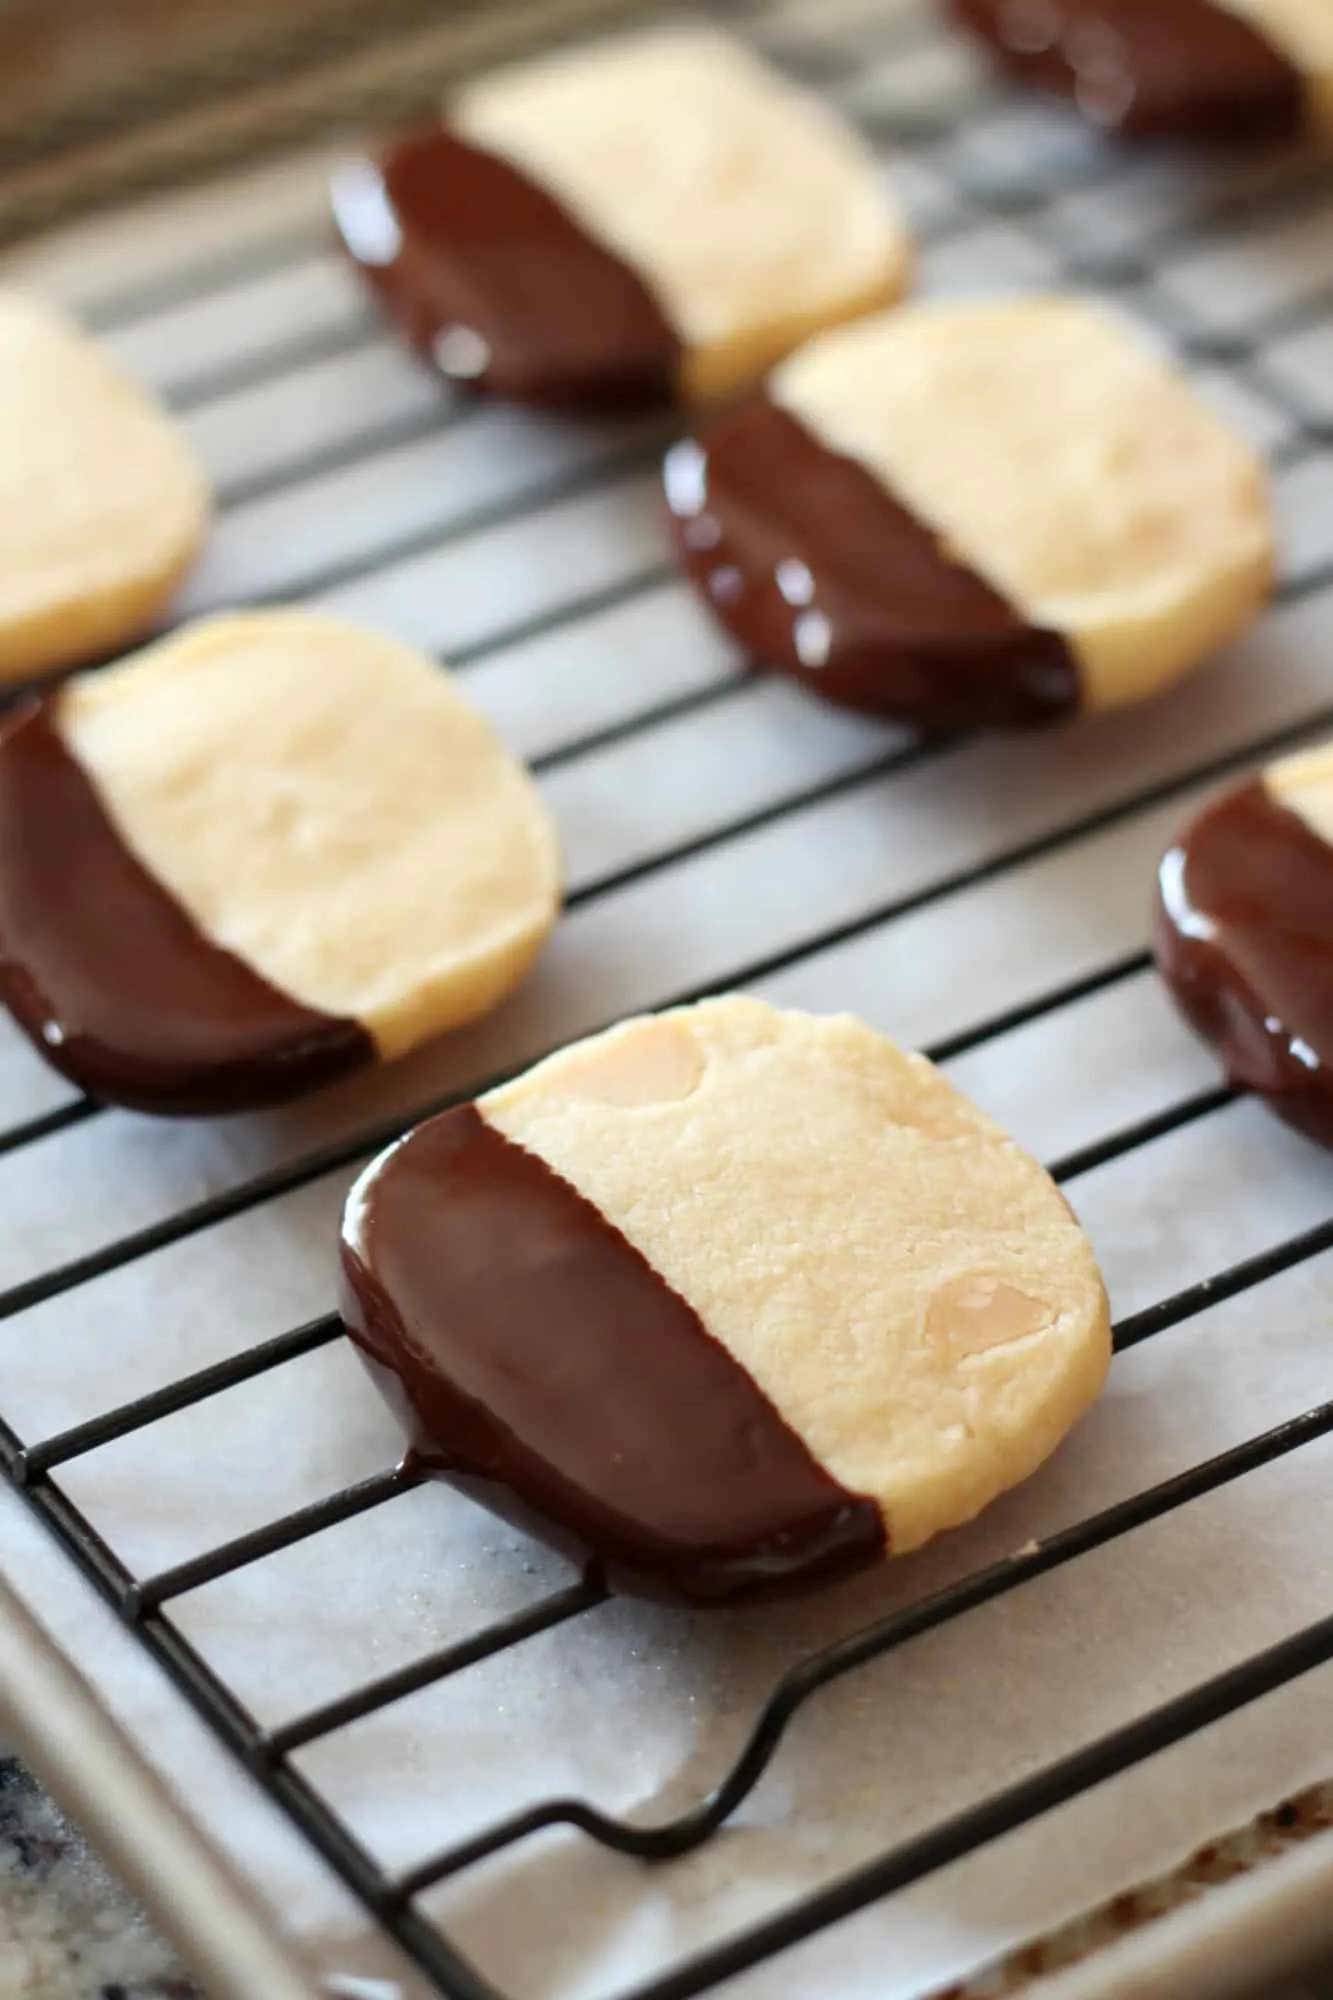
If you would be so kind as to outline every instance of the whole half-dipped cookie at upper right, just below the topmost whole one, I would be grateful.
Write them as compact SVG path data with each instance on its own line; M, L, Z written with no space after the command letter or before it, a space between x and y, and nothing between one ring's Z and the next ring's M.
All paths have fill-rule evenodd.
M1077 298L823 334L673 446L666 500L757 664L925 728L1159 694L1273 578L1255 454Z

